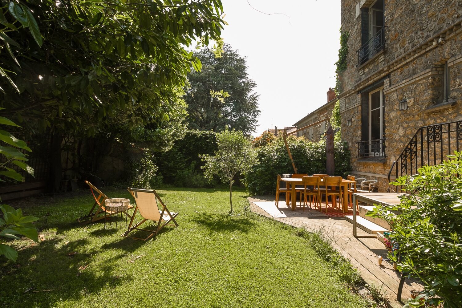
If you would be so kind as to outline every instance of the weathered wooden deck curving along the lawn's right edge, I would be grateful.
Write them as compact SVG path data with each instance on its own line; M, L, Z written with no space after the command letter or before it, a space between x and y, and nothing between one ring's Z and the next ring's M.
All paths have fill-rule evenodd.
M298 207L296 211L292 212L293 214L288 214L288 211L283 210L281 211L281 215L274 215L275 210L277 210L275 206L274 209L268 210L269 204L266 205L268 212L254 203L257 202L258 204L258 202L265 201L274 202L274 196L249 198L251 210L261 216L275 219L293 227L304 228L308 231L323 230L327 236L334 240L335 248L351 260L352 265L358 269L361 277L367 284L375 284L378 288L382 288L381 293L385 293L385 297L389 299L389 306L393 308L402 307L410 297L410 290L422 290L421 285L406 279L402 290L402 302L398 302L396 300L396 292L401 273L395 271L393 266L388 262L383 261L381 266L378 265L378 256L382 255L385 258L387 255L387 250L383 246L383 243L377 238L353 237L353 224L347 222L344 217L318 215L319 211L315 210L305 210L302 212ZM281 200L279 205L280 207L286 207L286 202ZM367 235L367 233L358 229L358 235Z

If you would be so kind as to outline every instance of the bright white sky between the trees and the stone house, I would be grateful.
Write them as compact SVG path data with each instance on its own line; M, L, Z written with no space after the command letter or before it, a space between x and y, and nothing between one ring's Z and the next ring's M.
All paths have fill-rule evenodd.
M292 126L327 103L326 92L335 86L340 0L248 1L222 0L229 24L222 37L246 57L255 80L258 136L276 125Z

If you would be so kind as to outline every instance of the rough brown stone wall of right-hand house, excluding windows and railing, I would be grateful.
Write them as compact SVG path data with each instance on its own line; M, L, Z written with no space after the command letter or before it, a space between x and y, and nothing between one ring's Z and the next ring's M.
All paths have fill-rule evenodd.
M356 50L361 42L358 1L342 0L342 31L348 31L347 69L340 74L342 138L352 151L353 175L377 179L386 191L389 169L419 127L462 120L462 1L385 0L384 51L362 66ZM443 104L444 62L450 72L451 102ZM359 91L383 80L385 155L371 161L358 156L361 141ZM366 97L366 99L368 99ZM407 100L408 109L399 110ZM347 120L352 125L347 126ZM444 141L444 147L448 141ZM425 150L427 151L427 150ZM426 152L425 152L426 153Z

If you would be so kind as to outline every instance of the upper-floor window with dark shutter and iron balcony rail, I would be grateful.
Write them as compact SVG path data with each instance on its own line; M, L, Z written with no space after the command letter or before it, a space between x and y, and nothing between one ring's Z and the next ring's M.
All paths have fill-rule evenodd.
M361 8L361 48L358 65L365 63L385 46L385 4L375 0L371 6Z

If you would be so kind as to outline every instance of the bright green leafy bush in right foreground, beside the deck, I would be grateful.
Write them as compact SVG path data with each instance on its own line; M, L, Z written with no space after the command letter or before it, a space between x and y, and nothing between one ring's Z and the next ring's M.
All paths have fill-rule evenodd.
M445 308L462 307L462 152L417 175L401 176L392 185L415 193L400 205L376 205L368 216L387 220L396 250L389 258L401 272L419 278L422 297ZM419 299L407 305L422 306Z

